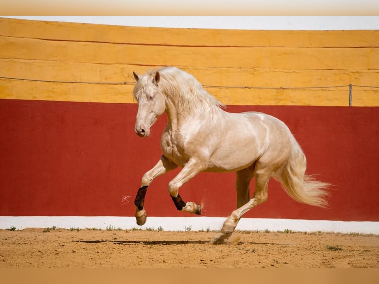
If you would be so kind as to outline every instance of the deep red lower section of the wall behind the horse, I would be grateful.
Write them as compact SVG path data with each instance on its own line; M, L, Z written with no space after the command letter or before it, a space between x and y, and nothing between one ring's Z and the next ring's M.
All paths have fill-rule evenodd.
M379 221L378 107L227 110L282 119L307 156L307 172L335 185L329 208L320 209L293 201L272 180L268 201L245 217ZM134 216L142 174L161 155L166 120L158 120L151 137L139 138L136 112L135 104L0 100L0 216ZM190 216L176 210L167 192L177 172L149 187L149 216ZM236 203L234 179L234 173L201 173L180 193L203 203L204 216L228 216Z

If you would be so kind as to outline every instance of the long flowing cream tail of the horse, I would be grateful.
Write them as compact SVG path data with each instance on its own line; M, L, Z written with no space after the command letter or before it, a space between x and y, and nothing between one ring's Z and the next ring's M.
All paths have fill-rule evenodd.
M324 198L328 193L324 189L328 189L330 184L319 182L312 176L306 175L306 167L305 155L293 137L292 152L278 172L277 179L294 200L309 205L326 207L328 203Z

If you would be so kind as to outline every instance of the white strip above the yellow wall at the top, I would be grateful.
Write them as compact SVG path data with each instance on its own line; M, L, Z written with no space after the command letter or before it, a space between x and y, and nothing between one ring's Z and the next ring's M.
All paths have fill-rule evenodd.
M366 0L372 1L372 0ZM284 3L284 2L283 2ZM234 3L235 5L235 3ZM285 2L284 5L288 5ZM309 5L309 1L307 1ZM362 3L360 2L360 5ZM377 4L378 6L378 4ZM1 16L137 27L240 30L377 30L378 16Z

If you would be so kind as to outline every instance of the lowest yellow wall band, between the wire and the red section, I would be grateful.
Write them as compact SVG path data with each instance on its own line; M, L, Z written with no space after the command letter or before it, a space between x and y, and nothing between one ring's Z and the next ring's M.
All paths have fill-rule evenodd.
M349 87L317 90L205 88L227 105L348 106ZM44 83L0 79L2 99L135 103L133 85ZM356 87L353 106L379 106L378 91Z

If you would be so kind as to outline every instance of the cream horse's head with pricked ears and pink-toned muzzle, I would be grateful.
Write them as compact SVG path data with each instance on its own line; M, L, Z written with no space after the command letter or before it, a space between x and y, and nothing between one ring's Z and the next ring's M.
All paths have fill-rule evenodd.
M134 130L137 135L147 137L150 134L151 126L158 116L165 111L166 100L158 87L160 80L158 71L155 74L146 74L144 76L133 72L133 76L137 82L133 89L133 95L138 102Z

